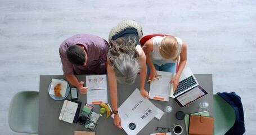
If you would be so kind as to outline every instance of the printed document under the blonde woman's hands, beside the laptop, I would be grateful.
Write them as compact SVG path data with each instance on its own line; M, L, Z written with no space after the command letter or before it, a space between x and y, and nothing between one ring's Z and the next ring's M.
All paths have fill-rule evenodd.
M154 100L169 101L171 86L170 80L175 73L156 71L158 78L151 82L149 89L149 97ZM172 90L173 91L173 90Z

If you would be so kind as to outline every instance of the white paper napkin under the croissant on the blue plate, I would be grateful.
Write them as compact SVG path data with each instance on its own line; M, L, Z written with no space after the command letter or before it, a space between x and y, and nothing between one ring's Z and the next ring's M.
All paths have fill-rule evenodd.
M66 87L68 86L68 82L66 82L65 80L59 80L59 79L52 79L52 83L51 83L51 88L50 88L50 91L49 93L51 95L55 95L54 93L54 87L61 83L61 90L60 90L60 94L62 97L65 97L66 95Z

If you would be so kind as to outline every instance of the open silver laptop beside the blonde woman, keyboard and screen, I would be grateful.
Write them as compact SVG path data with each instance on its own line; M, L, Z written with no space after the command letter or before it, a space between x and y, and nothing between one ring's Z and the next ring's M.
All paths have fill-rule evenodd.
M179 106L184 107L191 102L205 96L207 92L199 86L194 74L190 68L183 70L179 78L179 84L176 91L173 93L173 84L171 84L170 97L178 103Z

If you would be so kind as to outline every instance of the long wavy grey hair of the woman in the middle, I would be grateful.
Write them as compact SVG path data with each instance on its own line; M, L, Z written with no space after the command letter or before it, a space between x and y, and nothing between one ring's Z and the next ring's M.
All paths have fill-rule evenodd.
M132 37L128 39L118 38L111 42L113 47L110 48L107 59L115 72L116 80L119 83L134 83L140 71L135 39Z

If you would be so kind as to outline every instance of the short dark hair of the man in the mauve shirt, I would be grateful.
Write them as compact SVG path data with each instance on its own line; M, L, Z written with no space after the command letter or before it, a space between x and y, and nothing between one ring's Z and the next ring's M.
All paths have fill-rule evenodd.
M84 53L83 48L77 44L68 47L66 56L72 64L77 66L84 65L84 61L86 61L86 53Z

